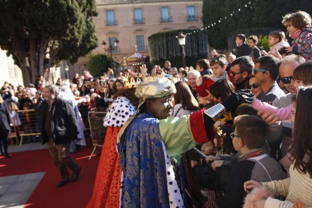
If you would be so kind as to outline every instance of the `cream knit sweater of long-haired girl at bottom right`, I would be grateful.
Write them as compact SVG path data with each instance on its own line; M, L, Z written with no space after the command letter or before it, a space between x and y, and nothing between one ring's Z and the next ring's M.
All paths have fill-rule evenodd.
M312 207L312 179L309 173L300 173L294 169L294 164L291 164L289 173L290 178L262 183L272 190L274 196L286 197L285 201L269 197L265 208L292 208L297 199L305 202L306 208Z

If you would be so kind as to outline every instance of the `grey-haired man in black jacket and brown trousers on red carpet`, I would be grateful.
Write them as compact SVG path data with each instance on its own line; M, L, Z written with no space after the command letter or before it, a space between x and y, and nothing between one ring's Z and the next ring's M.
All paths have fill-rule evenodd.
M56 97L58 87L46 85L42 89L45 102L41 105L41 138L57 169L61 173L61 187L70 181L67 167L73 171L71 181L79 177L81 167L70 156L71 140L77 138L77 120L74 109L66 100Z

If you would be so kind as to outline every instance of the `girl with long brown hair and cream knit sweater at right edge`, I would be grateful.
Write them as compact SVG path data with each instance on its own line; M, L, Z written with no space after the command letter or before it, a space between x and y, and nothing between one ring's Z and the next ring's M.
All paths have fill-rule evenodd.
M312 186L312 114L310 106L312 105L312 86L302 87L297 93L297 102L292 109L291 121L295 124L293 132L294 142L291 148L291 155L294 161L290 166L290 177L284 180L276 180L265 183L259 183L259 180L250 180L244 183L245 191L249 192L255 187L261 187L252 191L251 196L247 195L246 201L248 204L256 205L257 207L311 207L311 186ZM259 193L261 191L261 193ZM270 196L270 191L273 196L286 197L285 201L274 199ZM269 193L266 197L261 197L260 200L255 200L260 194ZM256 197L255 197L256 196ZM252 199L251 199L251 198ZM299 200L300 199L300 200ZM299 200L299 201L298 201ZM301 205L301 202L305 206ZM248 206L248 205L247 205Z

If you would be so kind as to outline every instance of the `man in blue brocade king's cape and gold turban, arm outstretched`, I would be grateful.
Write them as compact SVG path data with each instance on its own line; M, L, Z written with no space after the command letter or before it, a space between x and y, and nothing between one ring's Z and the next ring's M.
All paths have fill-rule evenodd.
M213 140L215 121L238 105L251 103L253 96L249 90L239 90L206 111L166 119L175 93L174 84L163 75L144 77L135 91L138 110L117 136L120 207L183 208L169 157Z

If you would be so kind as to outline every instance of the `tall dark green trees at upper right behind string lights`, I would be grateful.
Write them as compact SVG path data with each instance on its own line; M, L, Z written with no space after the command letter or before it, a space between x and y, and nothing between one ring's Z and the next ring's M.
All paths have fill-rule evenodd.
M282 16L297 10L312 14L310 0L203 0L202 20L204 26L210 25L207 28L209 45L226 49L229 32L257 27L275 27L285 31L286 28L281 24ZM233 11L234 15L231 16ZM217 24L211 27L214 22Z

